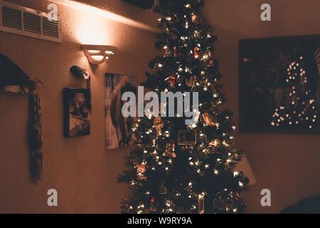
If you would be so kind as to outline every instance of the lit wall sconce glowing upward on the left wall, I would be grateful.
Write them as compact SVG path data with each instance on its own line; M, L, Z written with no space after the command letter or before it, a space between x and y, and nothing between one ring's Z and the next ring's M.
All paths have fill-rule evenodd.
M88 61L95 65L103 63L117 50L114 46L105 45L82 45L81 48L85 52Z

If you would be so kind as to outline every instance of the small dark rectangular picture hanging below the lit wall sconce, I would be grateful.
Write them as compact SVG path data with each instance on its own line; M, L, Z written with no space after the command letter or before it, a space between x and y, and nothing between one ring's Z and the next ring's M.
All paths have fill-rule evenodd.
M64 136L90 135L90 89L64 88Z

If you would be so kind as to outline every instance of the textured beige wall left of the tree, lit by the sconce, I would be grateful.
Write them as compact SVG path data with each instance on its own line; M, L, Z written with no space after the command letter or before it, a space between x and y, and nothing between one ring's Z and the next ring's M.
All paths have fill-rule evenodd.
M12 0L46 11L47 1ZM99 1L97 1L98 3ZM110 6L122 14L119 1ZM123 4L123 3L121 3ZM154 16L142 10L132 10ZM124 169L129 149L105 150L106 72L128 73L143 81L148 61L155 56L154 33L105 19L89 11L58 7L63 42L0 32L0 52L21 66L31 78L40 78L43 115L43 182L31 183L28 171L28 98L0 92L0 213L112 213L119 212L124 186L117 175ZM105 44L119 48L112 59L90 66L80 44ZM63 93L65 87L84 87L70 75L70 66L86 68L92 75L92 133L81 138L63 138ZM58 190L58 207L47 206L47 191Z

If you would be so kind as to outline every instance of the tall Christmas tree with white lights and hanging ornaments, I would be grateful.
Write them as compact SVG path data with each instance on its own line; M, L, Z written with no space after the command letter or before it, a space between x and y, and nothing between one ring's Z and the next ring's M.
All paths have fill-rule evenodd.
M156 42L161 56L150 61L144 86L158 94L197 92L198 122L184 125L178 115L160 113L137 120L137 147L119 177L129 186L122 212L240 213L248 179L234 171L242 152L234 148L232 113L220 110L226 98L213 57L217 38L198 16L203 1L167 2Z

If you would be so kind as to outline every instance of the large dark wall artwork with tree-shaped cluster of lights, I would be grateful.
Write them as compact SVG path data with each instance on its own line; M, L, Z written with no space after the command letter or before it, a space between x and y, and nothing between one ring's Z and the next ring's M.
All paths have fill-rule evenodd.
M239 41L240 132L320 133L320 35Z

